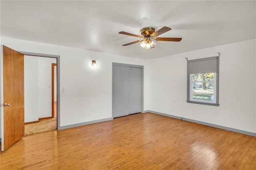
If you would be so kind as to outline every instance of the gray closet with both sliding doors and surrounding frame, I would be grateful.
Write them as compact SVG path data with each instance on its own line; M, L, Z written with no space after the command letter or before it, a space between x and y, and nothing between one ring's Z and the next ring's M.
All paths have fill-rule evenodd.
M142 111L142 72L141 67L113 65L113 117Z

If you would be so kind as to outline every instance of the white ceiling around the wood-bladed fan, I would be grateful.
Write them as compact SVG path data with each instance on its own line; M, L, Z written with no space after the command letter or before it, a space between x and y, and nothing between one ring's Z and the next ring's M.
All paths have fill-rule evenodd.
M256 1L3 1L1 36L152 59L256 38ZM140 29L171 27L145 50Z

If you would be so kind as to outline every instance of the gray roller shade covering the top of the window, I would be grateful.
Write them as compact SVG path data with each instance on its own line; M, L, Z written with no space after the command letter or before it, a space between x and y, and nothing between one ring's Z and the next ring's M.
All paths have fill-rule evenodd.
M188 60L188 74L217 72L218 57Z

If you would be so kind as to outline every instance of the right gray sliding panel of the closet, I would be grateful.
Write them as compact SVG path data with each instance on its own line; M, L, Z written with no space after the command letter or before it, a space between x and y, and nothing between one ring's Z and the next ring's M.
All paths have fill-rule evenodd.
M142 111L142 68L129 69L129 114Z

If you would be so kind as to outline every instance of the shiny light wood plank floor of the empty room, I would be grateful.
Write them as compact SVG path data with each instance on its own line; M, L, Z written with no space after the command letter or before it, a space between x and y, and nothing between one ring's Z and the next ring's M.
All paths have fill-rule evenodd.
M256 137L153 113L23 137L1 170L256 169Z

